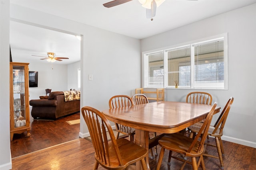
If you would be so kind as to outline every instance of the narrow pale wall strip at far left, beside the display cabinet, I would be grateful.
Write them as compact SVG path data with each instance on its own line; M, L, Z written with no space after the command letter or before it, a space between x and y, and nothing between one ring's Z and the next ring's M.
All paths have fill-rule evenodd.
M10 152L10 76L9 9L10 2L0 0L0 170L12 168ZM4 16L4 17L3 17Z

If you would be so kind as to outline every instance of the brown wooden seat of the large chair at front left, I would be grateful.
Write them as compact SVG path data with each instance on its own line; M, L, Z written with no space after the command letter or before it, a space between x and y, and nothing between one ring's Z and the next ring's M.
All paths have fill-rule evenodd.
M145 157L147 154L147 150L145 148L140 147L139 145L136 145L135 143L131 143L127 139L116 139L120 156L122 158L123 166L120 166L118 163L118 160L116 159L116 153L114 150L114 147L112 143L109 143L109 151L110 151L110 164L111 166L107 166L106 164L102 164L101 160L97 158L97 155L95 154L95 158L97 162L103 166L104 168L112 168L112 169L122 169L128 166L129 164L132 164L134 162L137 162L141 159L141 157ZM127 156L129 155L129 156ZM107 160L108 161L108 160Z

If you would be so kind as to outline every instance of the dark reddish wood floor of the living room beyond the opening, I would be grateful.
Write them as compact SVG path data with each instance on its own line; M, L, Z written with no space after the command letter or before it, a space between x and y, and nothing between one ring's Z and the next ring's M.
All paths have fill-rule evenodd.
M10 143L12 158L78 139L80 124L69 125L66 122L76 119L80 119L80 112L55 121L30 117L31 136L26 137L26 132L14 134Z

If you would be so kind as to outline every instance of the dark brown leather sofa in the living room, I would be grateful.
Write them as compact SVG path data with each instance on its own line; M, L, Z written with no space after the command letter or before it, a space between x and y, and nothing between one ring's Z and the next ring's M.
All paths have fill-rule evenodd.
M65 102L64 92L51 92L49 96L40 96L38 100L30 100L31 115L34 119L57 119L80 111L80 100Z

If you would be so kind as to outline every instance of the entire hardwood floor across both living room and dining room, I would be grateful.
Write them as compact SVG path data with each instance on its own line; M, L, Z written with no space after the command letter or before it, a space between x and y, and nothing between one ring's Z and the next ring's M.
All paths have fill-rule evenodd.
M79 113L62 119L63 120L60 119L57 121L36 121L35 123L32 123L33 130L31 129L31 134L37 133L36 135L34 134L34 136L31 135L32 138L23 137L22 135L15 136L14 141L11 142L13 170L92 169L94 164L94 148L92 143L86 139L78 137L80 128L79 124L68 125L68 123L65 122L67 120L64 120L79 119ZM68 140L70 142L67 142ZM214 143L213 138L210 138L210 143ZM16 145L14 146L14 144ZM255 148L230 143L227 141L223 141L223 146L225 151L225 170L256 169ZM23 151L20 151L19 148L21 147ZM42 149L44 147L49 148ZM160 149L161 147L158 146L158 154L160 153ZM26 154L24 150L28 154ZM210 154L217 155L216 148L207 147L207 151ZM149 160L151 170L155 170L158 162L158 156L154 156L154 159ZM172 159L171 165L168 166L167 160L168 151L166 150L163 162L161 164L161 170L177 170L182 165L182 162ZM204 157L204 162L207 170L220 169L220 162L218 159ZM104 170L104 168L101 166L99 166L98 169ZM134 169L134 166L131 166L129 169ZM184 169L191 170L192 166L186 164Z

